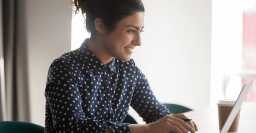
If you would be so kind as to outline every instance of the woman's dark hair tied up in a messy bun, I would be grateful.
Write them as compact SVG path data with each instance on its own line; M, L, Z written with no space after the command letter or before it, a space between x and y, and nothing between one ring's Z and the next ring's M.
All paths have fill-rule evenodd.
M86 30L91 33L92 39L97 34L94 24L96 18L102 19L107 33L111 33L122 19L136 12L145 13L141 0L70 0L70 4L70 8L75 12L75 15L79 13L79 10L83 17L85 14L84 23ZM74 6L76 6L75 10L73 10Z

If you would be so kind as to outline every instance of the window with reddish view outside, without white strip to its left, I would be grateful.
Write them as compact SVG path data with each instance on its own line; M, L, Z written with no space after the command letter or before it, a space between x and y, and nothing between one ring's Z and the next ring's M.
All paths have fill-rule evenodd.
M254 83L245 101L256 102L256 1L227 0L224 98L236 100L245 83Z

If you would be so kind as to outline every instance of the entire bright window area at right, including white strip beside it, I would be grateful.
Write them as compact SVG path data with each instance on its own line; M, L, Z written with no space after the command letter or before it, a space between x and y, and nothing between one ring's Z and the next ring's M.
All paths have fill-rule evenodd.
M212 1L211 105L256 79L256 0ZM256 80L245 101L256 102Z

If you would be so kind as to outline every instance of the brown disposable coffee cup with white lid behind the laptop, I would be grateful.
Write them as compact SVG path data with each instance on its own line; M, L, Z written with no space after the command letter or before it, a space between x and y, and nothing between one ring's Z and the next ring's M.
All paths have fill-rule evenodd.
M227 117L229 116L234 104L236 103L236 100L218 100L218 120L219 120L219 130L223 128ZM236 114L236 118L234 119L232 125L230 126L230 129L227 133L237 133L238 132L238 125L239 125L239 117L240 117L240 111L239 109L238 113Z

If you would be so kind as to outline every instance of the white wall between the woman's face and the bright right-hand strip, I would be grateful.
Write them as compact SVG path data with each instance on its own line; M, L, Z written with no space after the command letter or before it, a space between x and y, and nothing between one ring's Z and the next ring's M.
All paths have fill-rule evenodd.
M143 0L142 45L132 58L157 100L198 110L210 105L212 0ZM142 119L129 108L129 114Z

